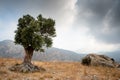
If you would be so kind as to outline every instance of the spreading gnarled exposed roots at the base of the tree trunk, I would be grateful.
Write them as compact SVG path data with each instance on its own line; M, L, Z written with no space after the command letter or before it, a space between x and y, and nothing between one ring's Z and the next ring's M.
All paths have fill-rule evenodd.
M16 64L10 67L9 70L23 73L45 71L44 68L35 66L32 63Z

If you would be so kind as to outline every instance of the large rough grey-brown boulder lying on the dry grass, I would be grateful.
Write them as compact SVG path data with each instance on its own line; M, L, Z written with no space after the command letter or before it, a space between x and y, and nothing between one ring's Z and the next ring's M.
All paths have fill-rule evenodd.
M117 63L113 58L105 55L88 54L82 59L83 65L116 67Z

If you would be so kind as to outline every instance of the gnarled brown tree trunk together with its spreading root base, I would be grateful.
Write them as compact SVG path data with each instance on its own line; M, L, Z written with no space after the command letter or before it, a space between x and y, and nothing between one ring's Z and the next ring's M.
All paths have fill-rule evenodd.
M34 49L31 46L24 49L25 49L25 57L23 63L16 64L15 66L11 67L10 70L19 71L19 72L45 71L44 68L37 67L31 63Z

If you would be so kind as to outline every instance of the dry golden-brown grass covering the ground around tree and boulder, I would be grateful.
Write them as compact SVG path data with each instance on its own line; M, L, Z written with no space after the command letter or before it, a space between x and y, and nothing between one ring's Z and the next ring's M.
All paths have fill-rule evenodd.
M88 67L78 62L38 62L45 72L11 72L9 67L21 60L0 58L0 80L120 80L120 69Z

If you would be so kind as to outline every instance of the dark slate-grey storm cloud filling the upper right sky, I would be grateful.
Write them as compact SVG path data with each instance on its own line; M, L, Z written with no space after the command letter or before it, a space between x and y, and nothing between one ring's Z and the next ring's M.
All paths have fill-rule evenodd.
M96 39L120 43L120 0L78 0L77 23L84 23Z

